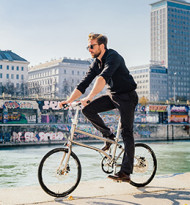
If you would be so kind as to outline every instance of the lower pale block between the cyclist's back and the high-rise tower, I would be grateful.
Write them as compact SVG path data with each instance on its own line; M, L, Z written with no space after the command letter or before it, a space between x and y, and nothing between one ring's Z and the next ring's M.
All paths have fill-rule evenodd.
M168 75L164 66L149 64L130 67L129 70L137 82L139 98L144 96L150 102L164 102L168 99Z

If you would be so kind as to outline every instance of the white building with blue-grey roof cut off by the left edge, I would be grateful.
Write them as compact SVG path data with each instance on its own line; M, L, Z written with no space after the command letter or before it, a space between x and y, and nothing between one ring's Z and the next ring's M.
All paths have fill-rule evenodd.
M20 95L21 87L28 81L28 64L11 50L0 50L0 95Z

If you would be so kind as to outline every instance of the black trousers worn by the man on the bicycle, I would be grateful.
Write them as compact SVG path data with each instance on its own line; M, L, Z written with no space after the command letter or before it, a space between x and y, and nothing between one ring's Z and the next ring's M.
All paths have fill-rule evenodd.
M126 174L133 172L134 162L134 137L133 122L135 107L138 103L138 96L135 91L114 95L103 95L93 100L89 105L83 108L82 112L87 119L99 130L104 137L112 134L98 113L117 108L121 116L121 136L123 138L125 152L121 171Z

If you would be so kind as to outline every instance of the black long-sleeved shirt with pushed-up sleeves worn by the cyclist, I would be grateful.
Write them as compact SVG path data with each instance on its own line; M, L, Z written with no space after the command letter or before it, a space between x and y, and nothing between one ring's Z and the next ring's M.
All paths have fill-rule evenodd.
M94 60L77 89L84 93L96 76L102 76L105 79L111 94L131 92L137 87L133 77L129 74L123 57L112 49L106 50L102 57L102 64L98 59Z

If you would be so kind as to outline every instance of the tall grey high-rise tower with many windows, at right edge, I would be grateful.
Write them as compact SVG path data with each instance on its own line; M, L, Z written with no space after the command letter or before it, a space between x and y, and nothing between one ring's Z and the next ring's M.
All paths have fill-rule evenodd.
M190 3L151 4L151 61L168 69L168 99L190 99Z

